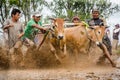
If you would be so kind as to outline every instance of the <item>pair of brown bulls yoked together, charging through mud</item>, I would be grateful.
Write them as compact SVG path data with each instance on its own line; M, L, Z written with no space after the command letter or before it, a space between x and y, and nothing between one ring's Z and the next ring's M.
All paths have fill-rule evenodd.
M64 19L56 18L52 20L53 25L48 33L50 36L49 45L57 61L61 63L61 60L56 53L56 45L60 50L63 51L64 56L66 56L66 45L69 45L69 42L72 42L72 44L76 45L76 48L79 50L86 51L89 49L89 44L92 41L97 43L97 45L103 50L103 53L106 55L112 66L115 67L115 64L111 60L106 46L102 43L102 38L105 32L104 26L86 28L84 24L80 24L77 27L64 28Z

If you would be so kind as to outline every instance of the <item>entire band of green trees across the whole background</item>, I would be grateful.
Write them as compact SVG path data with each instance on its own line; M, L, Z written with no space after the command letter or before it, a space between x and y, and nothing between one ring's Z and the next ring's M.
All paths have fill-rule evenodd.
M50 4L45 0L1 0L0 23L3 24L5 19L8 18L12 7L21 9L25 22L27 22L32 12L42 11L45 6L54 13L54 17L71 19L77 15L82 20L90 17L90 12L94 7L97 7L101 15L106 18L120 11L120 6L112 4L109 0L52 0Z

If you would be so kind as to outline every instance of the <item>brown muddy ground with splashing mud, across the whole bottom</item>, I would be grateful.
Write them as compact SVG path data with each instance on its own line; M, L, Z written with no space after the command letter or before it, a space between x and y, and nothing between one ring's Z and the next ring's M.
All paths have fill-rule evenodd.
M77 61L71 51L65 58L61 58L62 53L59 53L61 64L45 45L39 52L30 49L24 58L16 54L13 59L5 53L1 49L0 80L120 80L120 69L113 68L107 59L97 64L102 54L99 48L91 49L90 56L79 53ZM116 52L111 56L113 61L118 57Z

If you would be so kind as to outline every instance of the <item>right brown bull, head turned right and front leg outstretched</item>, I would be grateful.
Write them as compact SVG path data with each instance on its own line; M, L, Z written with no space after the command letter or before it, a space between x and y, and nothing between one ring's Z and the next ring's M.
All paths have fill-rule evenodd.
M106 46L102 43L104 36L104 26L94 26L94 28L85 28L85 26L78 26L65 29L66 45L72 44L76 50L86 52L89 50L91 41L100 45L103 53L106 55L112 66L115 66L110 58ZM72 46L72 47L73 47ZM75 51L76 51L75 50ZM75 52L77 54L77 52ZM77 55L76 55L77 56Z

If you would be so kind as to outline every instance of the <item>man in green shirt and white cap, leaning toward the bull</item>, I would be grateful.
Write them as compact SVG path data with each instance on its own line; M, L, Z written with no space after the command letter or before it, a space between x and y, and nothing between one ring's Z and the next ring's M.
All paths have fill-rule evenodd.
M34 38L36 33L38 33L39 30L41 30L42 32L46 31L43 27L41 27L42 24L40 22L40 13L35 12L32 17L33 18L27 23L25 31L22 34L23 41L31 46L34 45Z

